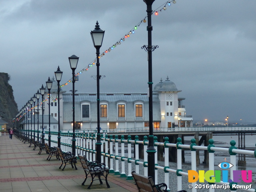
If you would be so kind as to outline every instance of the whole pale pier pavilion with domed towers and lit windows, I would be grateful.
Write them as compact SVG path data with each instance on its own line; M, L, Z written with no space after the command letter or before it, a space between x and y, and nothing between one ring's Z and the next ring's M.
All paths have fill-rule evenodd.
M44 102L44 114L49 114L58 121L57 82L52 78L50 105ZM193 118L186 115L182 102L178 98L181 90L167 79L160 80L153 90L153 124L154 128L192 127ZM46 95L48 90L46 89ZM73 128L72 93L60 91L60 130ZM38 108L42 114L42 107ZM46 124L45 124L46 126ZM101 93L100 127L108 129L127 129L149 127L149 108L147 93ZM55 128L55 127L54 127ZM97 128L97 94L75 93L75 128L76 130L96 130ZM51 129L52 130L52 129Z

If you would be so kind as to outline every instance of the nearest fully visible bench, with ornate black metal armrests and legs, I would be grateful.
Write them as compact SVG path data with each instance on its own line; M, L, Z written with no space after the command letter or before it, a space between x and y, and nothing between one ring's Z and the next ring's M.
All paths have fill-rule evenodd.
M109 168L106 168L106 165L104 163L99 164L98 161L88 162L86 156L82 156L80 154L78 155L78 157L80 159L80 162L81 162L84 172L86 174L82 185L84 185L84 183L86 182L86 179L88 178L88 174L90 174L90 176L92 177L92 181L91 181L90 185L88 186L88 189L91 188L95 177L98 177L97 180L100 181L100 184L102 184L102 180L105 180L107 188L110 188L110 186L108 184ZM100 178L101 176L103 176L105 179L101 179Z

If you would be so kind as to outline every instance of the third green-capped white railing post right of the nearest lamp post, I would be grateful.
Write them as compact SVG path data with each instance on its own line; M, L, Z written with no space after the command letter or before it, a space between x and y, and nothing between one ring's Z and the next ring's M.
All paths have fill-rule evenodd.
M177 190L182 190L182 175L179 174L179 171L182 171L182 148L179 145L182 145L182 139L177 138L176 148L177 148Z

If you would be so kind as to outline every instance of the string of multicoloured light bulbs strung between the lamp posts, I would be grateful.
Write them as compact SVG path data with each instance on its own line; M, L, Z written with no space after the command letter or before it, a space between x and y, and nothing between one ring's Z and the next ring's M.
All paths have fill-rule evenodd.
M156 16L158 15L158 12L162 12L162 10L166 10L166 6L171 6L171 2L173 4L176 4L175 0L171 0L171 1L167 1L164 4L162 4L161 6L159 6L158 8L156 8L156 10L154 10L152 12L152 14L155 14ZM102 52L102 54L100 54L99 58L105 56L106 53L110 52L111 50L114 50L114 48L116 48L118 45L120 45L122 42L124 42L127 38L130 37L130 35L135 34L135 31L138 29L138 27L140 26L140 24L142 23L146 23L146 18L148 16L144 17L140 22L138 22L138 24L136 24L134 26L134 28L132 28L128 33L126 33L122 38L118 39L118 41L116 41L116 43L114 43L112 46L110 46L110 48L106 49L104 52ZM90 67L92 67L93 65L95 65L96 63L96 58L90 62L90 64L88 64L88 66L86 66L85 68L83 68L82 70L80 70L80 72L78 72L77 74L75 74L75 76L78 76L80 74L82 74L82 72L86 72L88 71L88 69ZM66 83L60 85L60 87L66 86L67 84L69 84L70 82L72 82L72 78L70 80L68 80ZM57 98L56 98L57 99Z

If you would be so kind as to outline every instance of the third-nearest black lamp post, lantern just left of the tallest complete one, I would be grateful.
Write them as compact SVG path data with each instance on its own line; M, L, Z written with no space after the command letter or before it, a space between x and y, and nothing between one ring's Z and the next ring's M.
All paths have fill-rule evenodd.
M76 155L76 134L75 134L75 92L77 90L75 90L75 70L76 70L76 66L78 63L78 59L79 57L72 55L71 57L68 58L69 60L69 64L70 64L70 68L72 69L72 76L73 76L73 90L70 90L72 92L72 96L73 96L73 138L72 138L72 153L74 153Z

